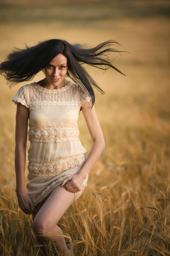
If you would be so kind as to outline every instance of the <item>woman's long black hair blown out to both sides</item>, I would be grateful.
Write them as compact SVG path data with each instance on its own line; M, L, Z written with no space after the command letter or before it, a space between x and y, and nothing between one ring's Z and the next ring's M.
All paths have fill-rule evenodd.
M33 77L46 67L50 61L58 54L63 54L67 58L68 72L67 76L76 83L81 83L88 90L92 104L95 102L93 87L104 94L104 91L95 83L92 77L86 72L82 64L88 64L98 67L102 70L113 68L123 74L108 60L109 52L118 52L111 45L119 43L109 40L97 45L94 48L87 48L82 45L71 45L65 40L51 39L46 40L33 47L26 49L15 48L7 59L0 64L0 74L4 75L10 83L20 83L30 81Z

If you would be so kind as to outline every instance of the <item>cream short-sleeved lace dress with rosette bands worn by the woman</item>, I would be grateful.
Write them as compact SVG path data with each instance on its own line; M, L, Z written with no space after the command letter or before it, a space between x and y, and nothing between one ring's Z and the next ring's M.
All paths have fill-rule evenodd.
M90 101L83 85L69 82L60 89L49 90L38 83L22 86L14 103L29 108L30 148L26 187L33 204L46 199L62 181L79 171L86 161L86 149L79 140L77 120L82 104ZM87 186L75 193L79 198Z

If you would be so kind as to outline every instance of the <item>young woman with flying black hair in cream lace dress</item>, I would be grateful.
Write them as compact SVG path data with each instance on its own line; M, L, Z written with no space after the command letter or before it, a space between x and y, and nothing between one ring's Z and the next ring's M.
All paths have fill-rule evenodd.
M42 243L55 241L58 251L72 255L62 230L56 224L68 207L87 186L88 173L101 155L105 142L97 119L93 87L103 93L82 64L108 69L107 58L115 42L107 41L94 48L71 45L65 40L46 40L33 47L15 49L0 64L8 82L33 79L41 70L44 79L22 86L13 97L17 104L15 172L20 209L33 216L33 229ZM120 72L121 73L121 72ZM70 77L74 82L66 79ZM86 149L79 141L77 119L82 110L93 139L86 159ZM29 123L29 131L27 132ZM26 141L29 135L27 191L24 187ZM58 235L58 237L57 237Z

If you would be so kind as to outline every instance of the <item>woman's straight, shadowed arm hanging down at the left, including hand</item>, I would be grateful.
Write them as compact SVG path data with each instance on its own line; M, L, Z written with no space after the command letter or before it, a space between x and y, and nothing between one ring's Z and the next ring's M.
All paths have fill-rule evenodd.
M31 214L33 213L34 207L31 198L25 191L24 185L28 119L29 109L21 103L17 103L15 127L16 193L20 209L26 214Z

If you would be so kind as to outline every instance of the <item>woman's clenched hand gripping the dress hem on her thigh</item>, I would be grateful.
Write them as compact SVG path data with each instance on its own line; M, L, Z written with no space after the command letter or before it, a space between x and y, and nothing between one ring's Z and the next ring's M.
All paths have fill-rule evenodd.
M84 178L80 174L74 174L67 177L61 186L65 186L65 189L69 192L75 193L82 189L82 183Z

